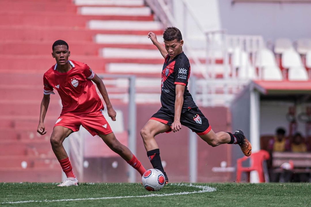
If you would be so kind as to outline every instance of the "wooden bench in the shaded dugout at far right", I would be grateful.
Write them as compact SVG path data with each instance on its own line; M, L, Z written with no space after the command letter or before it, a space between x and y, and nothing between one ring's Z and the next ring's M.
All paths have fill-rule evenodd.
M293 173L311 173L311 153L310 152L273 152L272 167L274 173L283 173L286 171L281 168L283 163L292 162L293 169L289 171Z

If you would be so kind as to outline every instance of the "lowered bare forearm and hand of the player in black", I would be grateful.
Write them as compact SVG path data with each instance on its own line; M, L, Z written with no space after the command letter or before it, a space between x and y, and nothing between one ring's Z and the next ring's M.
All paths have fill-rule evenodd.
M174 122L171 125L173 132L179 131L181 129L180 114L181 109L183 108L184 91L185 91L184 85L177 84L175 86L175 115L174 115Z

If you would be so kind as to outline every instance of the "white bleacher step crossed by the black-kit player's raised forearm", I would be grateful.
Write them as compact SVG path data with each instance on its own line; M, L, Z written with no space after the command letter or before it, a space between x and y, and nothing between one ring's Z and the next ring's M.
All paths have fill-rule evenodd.
M158 42L163 43L162 35L157 36ZM146 35L96 34L94 41L98 44L153 44Z

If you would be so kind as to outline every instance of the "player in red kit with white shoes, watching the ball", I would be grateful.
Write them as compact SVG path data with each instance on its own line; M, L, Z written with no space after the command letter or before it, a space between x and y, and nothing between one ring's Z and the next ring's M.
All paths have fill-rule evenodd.
M78 180L72 171L68 155L63 147L63 141L72 132L79 131L82 125L91 135L99 135L111 150L118 153L125 161L135 168L141 175L146 171L141 162L114 136L108 122L104 118L103 103L96 92L96 84L106 103L108 116L116 120L107 90L103 81L82 62L68 60L70 51L68 44L57 40L52 46L52 56L56 60L48 71L44 73L44 95L40 108L40 120L37 131L44 135L44 117L47 112L50 94L57 90L62 100L63 109L56 121L50 138L55 156L57 157L67 179L58 186L77 186ZM92 82L93 81L93 82Z

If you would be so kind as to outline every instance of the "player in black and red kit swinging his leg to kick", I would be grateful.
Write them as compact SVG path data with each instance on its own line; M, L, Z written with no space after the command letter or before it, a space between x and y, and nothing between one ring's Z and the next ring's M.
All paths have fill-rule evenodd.
M190 128L212 147L220 144L239 144L245 156L251 155L252 146L241 130L236 130L234 134L223 131L215 133L207 118L194 103L187 89L190 64L183 53L183 39L179 29L168 27L164 30L165 48L157 41L153 32L149 32L148 38L165 59L161 79L162 107L150 118L140 134L153 168L164 174L165 183L168 182L168 178L161 163L155 136L163 132L177 132L181 129L181 125Z

